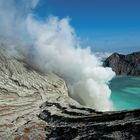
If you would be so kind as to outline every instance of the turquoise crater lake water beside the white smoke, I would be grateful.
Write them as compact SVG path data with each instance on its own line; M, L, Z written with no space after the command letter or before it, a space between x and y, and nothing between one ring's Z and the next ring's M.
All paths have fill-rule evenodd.
M140 77L115 77L109 87L116 110L140 108Z

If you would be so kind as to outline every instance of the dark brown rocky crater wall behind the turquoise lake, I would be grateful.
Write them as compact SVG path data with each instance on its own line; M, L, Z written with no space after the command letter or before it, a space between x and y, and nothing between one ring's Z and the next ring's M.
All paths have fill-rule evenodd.
M122 55L114 53L109 56L103 64L111 67L117 75L140 75L140 52Z

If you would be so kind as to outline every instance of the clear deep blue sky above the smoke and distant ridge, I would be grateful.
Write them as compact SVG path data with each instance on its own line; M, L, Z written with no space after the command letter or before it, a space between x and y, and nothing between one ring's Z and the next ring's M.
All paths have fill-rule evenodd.
M94 51L140 50L140 0L40 0L40 20L69 17L84 45Z

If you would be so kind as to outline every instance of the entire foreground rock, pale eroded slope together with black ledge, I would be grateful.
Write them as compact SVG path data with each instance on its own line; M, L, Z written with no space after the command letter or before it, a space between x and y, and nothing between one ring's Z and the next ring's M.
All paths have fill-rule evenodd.
M97 112L65 82L0 52L0 140L140 139L140 110Z

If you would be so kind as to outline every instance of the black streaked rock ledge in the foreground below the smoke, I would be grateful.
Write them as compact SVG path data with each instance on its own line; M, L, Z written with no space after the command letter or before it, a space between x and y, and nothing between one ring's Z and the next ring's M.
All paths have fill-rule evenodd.
M48 123L49 139L128 140L140 138L140 110L96 112L89 108L68 107L46 102L39 117ZM48 108L59 111L52 114Z

